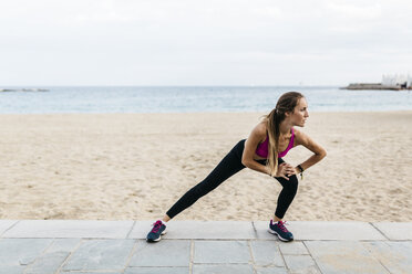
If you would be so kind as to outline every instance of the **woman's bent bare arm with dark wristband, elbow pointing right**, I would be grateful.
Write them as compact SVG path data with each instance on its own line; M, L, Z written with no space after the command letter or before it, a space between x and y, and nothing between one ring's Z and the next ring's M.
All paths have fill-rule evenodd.
M312 151L315 155L310 156L306 161L300 164L300 166L303 168L303 170L307 170L321 159L323 159L327 156L327 151L325 148L322 148L319 144L317 144L312 138L310 138L308 135L300 130L295 129L295 140L296 146L302 145L303 147L308 148L310 151ZM300 170L296 167L297 173L300 172Z

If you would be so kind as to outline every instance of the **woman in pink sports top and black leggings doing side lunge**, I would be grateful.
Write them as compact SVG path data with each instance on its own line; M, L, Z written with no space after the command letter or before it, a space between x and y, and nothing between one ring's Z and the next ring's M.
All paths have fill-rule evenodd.
M278 99L276 108L251 130L247 139L240 140L206 177L205 180L188 190L163 217L153 224L147 234L147 242L157 242L165 234L165 223L190 207L200 197L214 190L227 178L245 167L267 173L277 179L282 186L274 218L269 223L269 232L281 241L292 241L293 235L285 228L282 221L286 211L298 190L297 175L320 161L326 150L308 135L293 129L303 127L309 117L308 104L302 94L285 93ZM313 152L306 161L297 167L282 160L292 147L302 145Z

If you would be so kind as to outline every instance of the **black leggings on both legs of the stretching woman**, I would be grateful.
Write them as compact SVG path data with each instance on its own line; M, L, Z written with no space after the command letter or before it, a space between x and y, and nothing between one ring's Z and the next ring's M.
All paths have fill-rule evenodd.
M200 197L207 194L215 188L217 188L222 182L228 179L230 176L240 171L245 168L241 164L241 155L245 148L245 140L243 139L236 144L236 146L223 158L223 160L217 165L217 167L204 179L202 182L197 183L190 190L188 190L167 212L166 214L172 219L192 204L194 204ZM265 160L257 160L261 165L266 165ZM279 165L284 162L279 158ZM292 202L296 192L298 190L298 178L296 175L289 177L286 180L281 177L275 177L284 189L280 191L278 197L278 204L276 208L275 215L282 219L286 211L288 210L290 203Z

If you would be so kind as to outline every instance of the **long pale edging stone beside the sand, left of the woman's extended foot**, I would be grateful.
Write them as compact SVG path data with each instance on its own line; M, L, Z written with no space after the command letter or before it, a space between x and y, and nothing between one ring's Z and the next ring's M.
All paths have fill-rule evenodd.
M2 238L125 239L133 221L22 220Z

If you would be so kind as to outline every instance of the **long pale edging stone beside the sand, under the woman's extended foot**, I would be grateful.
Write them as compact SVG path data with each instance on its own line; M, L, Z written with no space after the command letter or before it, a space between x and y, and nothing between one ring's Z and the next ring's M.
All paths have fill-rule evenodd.
M154 221L136 221L131 239L146 239ZM251 222L246 221L171 221L166 224L167 234L162 239L208 239L246 240L255 239Z

